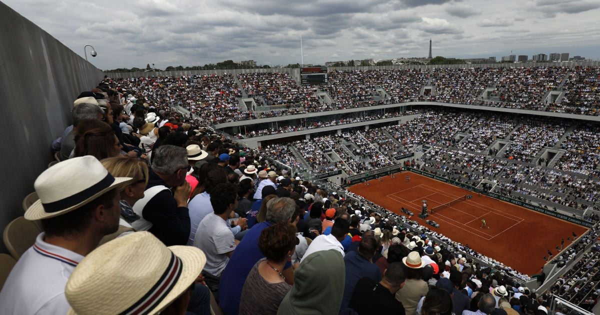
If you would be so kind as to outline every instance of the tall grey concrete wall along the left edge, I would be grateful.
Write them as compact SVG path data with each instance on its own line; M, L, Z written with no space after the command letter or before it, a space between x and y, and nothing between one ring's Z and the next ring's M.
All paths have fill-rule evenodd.
M83 48L84 43L82 43ZM73 101L104 76L43 29L0 2L0 232L23 215L23 197L53 160L50 144L71 124ZM5 251L4 243L0 251Z

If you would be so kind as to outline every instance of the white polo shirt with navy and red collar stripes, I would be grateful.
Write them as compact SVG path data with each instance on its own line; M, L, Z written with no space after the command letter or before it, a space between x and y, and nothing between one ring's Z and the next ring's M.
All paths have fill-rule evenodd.
M43 241L19 259L0 292L2 314L67 314L65 286L83 256Z

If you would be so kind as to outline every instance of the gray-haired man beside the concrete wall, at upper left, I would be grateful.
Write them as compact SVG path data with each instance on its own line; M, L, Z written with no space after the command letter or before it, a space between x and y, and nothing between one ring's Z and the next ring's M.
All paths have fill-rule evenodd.
M52 143L52 148L59 151L61 161L67 160L71 151L75 148L75 134L77 125L85 119L102 119L103 111L98 106L98 101L93 97L78 98L74 102L75 107L71 110L71 119L73 125L70 125L62 132L62 137Z

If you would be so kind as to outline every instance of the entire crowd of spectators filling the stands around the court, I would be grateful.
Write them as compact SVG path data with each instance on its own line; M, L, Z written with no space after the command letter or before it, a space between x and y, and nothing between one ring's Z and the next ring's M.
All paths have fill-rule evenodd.
M467 77L461 86L475 92L454 95L443 88L440 97L471 100L500 76L499 97L534 104L569 71L465 70L458 75ZM324 89L338 108L389 102L374 98L382 86L379 73L331 71ZM407 73L425 80L423 71ZM448 78L456 74L436 76L439 86L451 86ZM314 90L298 89L289 75L238 79L267 106L320 107ZM581 81L573 79L569 88ZM401 83L410 91L392 97L415 97L416 85L409 85ZM226 314L299 314L307 308L322 314L548 314L548 297L523 287L528 275L343 188L319 186L275 166L301 167L287 144L250 149L212 130L217 122L256 118L239 108L241 95L231 74L106 77L82 92L73 104L73 125L52 143L60 161L35 181L39 199L25 218L40 221L43 232L2 287L3 311L210 314L212 295ZM170 107L175 105L198 118L182 116ZM515 130L519 124L523 129ZM341 167L354 175L392 164L382 146L387 153L427 144L432 146L419 167L442 176L473 185L492 179L508 194L575 209L595 205L598 127L578 125L560 143L566 153L550 169L522 157L533 152L527 151L531 146L556 145L565 126L526 124L498 114L424 112L364 135L343 132L292 145L307 167ZM458 130L471 136L455 142ZM511 135L521 145L510 153L521 158L486 155L494 140ZM327 157L329 150L340 161ZM594 231L581 244L597 236ZM598 249L554 287L590 308L600 282Z

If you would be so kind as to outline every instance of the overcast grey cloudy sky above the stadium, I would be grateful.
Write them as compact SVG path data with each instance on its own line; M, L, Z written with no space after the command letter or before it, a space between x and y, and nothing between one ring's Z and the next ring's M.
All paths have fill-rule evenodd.
M600 58L600 0L2 0L101 69L569 52ZM89 50L88 50L89 51Z

